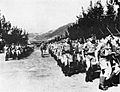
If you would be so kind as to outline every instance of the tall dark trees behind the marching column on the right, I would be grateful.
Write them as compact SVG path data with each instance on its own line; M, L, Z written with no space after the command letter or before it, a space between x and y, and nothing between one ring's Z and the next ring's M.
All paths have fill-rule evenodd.
M118 6L117 11L115 7ZM70 39L88 38L95 35L97 38L107 35L120 35L120 2L119 0L107 0L106 10L101 1L94 5L90 1L89 8L77 16L76 23L68 27L67 36Z

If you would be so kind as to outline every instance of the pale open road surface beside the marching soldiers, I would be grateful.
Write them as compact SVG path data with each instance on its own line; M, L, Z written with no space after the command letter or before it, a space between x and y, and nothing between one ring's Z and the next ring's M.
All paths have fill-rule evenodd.
M42 58L35 50L21 60L4 61L0 54L0 92L103 92L99 80L84 81L84 74L65 77L52 57ZM106 92L119 92L119 87Z

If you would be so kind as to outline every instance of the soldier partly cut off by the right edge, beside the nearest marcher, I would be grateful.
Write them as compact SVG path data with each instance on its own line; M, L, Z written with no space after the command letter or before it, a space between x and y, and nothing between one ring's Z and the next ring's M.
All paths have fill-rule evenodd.
M120 61L119 61L119 57L120 57L120 41L119 41L119 37L113 37L111 38L111 43L112 43L112 51L115 52L115 54L112 56L113 57L113 61L111 62L111 66L112 66L112 73L110 76L110 81L112 86L118 86L117 83L114 82L114 79L116 78L116 76L120 73ZM116 79L115 79L116 80Z

